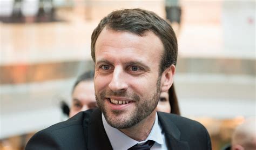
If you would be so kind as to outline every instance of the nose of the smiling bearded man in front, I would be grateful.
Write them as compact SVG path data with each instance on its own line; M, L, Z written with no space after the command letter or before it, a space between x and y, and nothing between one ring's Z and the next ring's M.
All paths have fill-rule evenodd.
M114 92L125 91L127 89L127 83L125 80L125 73L122 67L116 67L113 71L112 80L109 84L110 90Z

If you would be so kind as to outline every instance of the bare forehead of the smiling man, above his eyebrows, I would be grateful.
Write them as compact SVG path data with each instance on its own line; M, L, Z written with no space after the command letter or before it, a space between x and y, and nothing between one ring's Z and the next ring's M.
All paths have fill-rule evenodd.
M159 60L163 51L163 43L151 31L147 31L144 36L138 36L127 31L104 28L95 45L96 61L103 56L114 57L115 54L123 54L122 59L125 59L125 56L130 59L134 58L132 56L143 56L145 59Z

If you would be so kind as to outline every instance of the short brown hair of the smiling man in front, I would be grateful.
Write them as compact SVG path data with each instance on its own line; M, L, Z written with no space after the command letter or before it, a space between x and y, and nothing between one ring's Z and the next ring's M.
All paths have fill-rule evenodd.
M95 62L95 43L105 28L115 31L128 31L139 36L144 36L146 31L152 31L158 36L164 45L164 53L161 57L160 73L167 67L177 63L178 44L176 35L163 18L152 11L143 9L122 9L111 12L104 17L91 36L91 56Z

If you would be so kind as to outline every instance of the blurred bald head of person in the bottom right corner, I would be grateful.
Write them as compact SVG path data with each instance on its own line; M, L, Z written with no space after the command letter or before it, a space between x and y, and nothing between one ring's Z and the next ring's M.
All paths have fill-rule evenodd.
M248 118L235 128L231 145L225 150L255 150L256 149L256 119Z

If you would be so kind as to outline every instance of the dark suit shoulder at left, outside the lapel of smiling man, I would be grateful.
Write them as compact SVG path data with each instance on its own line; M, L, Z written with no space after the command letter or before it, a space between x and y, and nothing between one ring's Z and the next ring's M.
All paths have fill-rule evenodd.
M74 117L37 132L26 145L28 149L85 149L87 124L94 110L79 112Z

